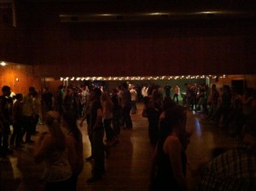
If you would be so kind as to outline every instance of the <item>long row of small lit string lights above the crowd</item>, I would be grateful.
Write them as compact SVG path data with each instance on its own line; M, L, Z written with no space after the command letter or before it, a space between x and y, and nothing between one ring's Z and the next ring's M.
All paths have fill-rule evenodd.
M128 76L126 76L126 77L72 77L72 78L70 78L70 77L61 77L60 78L60 80L61 81L67 81L68 79L70 79L70 80L77 80L77 81L79 81L79 80L81 80L81 81L94 81L94 80L101 80L101 81L116 81L116 80L119 80L119 81L121 81L121 80L166 80L166 79L168 79L168 80L171 80L171 79L175 79L175 80L177 80L177 79L197 79L197 78L212 78L212 79L215 79L215 78L226 78L226 75L225 74L223 74L223 75L195 75L195 76L190 76L190 75L188 75L188 76L149 76L149 77L145 77L145 76L143 76L143 77L140 77L140 76L136 76L136 77L128 77Z

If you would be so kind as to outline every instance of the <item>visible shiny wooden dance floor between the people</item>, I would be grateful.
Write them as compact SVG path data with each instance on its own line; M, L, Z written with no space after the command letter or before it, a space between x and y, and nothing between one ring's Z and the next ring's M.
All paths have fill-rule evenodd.
M121 130L119 144L111 148L106 159L106 175L99 182L86 183L91 175L91 164L85 162L79 176L78 190L86 191L147 191L153 148L148 140L148 121L142 118L142 104L137 104L137 114L131 115L133 130ZM46 130L38 125L39 132ZM201 114L188 111L187 129L194 130L187 155L191 170L210 159L212 148L230 148L236 144L236 138L224 134ZM81 128L84 136L84 158L90 156L90 142L86 134L86 124ZM38 136L33 136L37 140ZM40 191L44 182L39 181L43 165L36 165L32 159L34 146L26 145L8 158L0 159L0 190L2 191ZM188 171L189 190L196 190L197 179Z

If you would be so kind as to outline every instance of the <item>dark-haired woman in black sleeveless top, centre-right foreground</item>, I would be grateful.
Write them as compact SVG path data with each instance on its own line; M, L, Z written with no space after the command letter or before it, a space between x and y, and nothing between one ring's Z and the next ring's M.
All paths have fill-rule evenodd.
M186 110L176 105L167 108L164 113L154 150L150 190L187 190L187 157L183 142L186 134Z

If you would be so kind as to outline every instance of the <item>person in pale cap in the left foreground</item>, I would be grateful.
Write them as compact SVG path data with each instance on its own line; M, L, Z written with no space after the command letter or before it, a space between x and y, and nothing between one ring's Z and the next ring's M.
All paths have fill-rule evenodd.
M60 117L56 111L46 114L45 123L49 131L39 136L34 150L35 162L45 164L45 191L73 190L73 171L68 160L67 137L61 130Z

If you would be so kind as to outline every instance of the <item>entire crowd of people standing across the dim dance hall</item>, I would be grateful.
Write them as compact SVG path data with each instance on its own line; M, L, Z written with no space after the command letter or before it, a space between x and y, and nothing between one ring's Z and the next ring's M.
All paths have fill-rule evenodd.
M183 104L178 101L180 90L177 85L173 97L170 92L164 95L159 85L141 90L142 116L148 119L148 138L154 147L150 190L188 188L186 148L192 135L185 128L188 109L204 114L209 120L218 121L229 130L231 136L239 135L242 140L241 146L227 151L242 154L229 159L228 156L233 153L221 153L210 165L206 165L201 175L201 190L216 190L218 184L222 185L221 190L240 190L238 187L254 190L255 90L247 89L245 95L241 96L229 85L224 85L221 92L215 84L212 84L211 90L207 89L206 84L185 86L187 92L183 96ZM172 90L172 87L168 86L166 90ZM44 164L42 179L46 181L45 190L76 190L79 174L84 167L79 126L83 127L86 121L90 140L91 154L85 161L93 163L92 175L87 182L96 182L105 174L105 159L111 147L119 143L121 126L132 130L131 114L137 113L137 101L135 86L127 83L120 84L112 91L86 85L82 88L60 85L56 99L47 88L40 98L33 87L26 95L17 93L11 96L10 87L5 85L0 96L0 154L4 157L12 154L14 149L24 147L24 144L33 144L32 135L37 134L37 124L45 123L48 130L40 133L34 152L35 162ZM10 124L13 126L11 136ZM225 164L221 162L223 158L227 160ZM247 162L243 162L244 159ZM237 174L242 171L242 174L238 174L240 177L221 174L228 171L224 168L232 168L230 162L238 164L240 160L246 166L236 165ZM218 163L224 167L220 168Z

